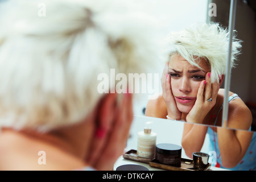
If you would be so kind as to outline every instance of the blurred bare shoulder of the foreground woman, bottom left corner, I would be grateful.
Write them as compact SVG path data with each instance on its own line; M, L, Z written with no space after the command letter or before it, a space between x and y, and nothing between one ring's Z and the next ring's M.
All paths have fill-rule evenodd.
M85 166L73 153L58 147L59 144L44 141L19 131L2 130L0 170L66 171Z

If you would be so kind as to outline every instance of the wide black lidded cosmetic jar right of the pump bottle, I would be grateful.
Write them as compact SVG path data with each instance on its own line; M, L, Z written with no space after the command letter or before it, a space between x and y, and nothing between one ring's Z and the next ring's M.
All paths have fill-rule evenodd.
M156 144L155 159L161 164L180 167L181 148L181 146L171 143Z

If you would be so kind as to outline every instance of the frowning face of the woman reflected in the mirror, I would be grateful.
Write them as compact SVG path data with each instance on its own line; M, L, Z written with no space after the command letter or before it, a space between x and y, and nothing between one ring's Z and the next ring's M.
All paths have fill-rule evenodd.
M180 55L171 56L169 74L171 76L171 89L177 108L182 113L189 113L196 102L200 82L205 80L205 75L210 68L205 60L201 60L197 68Z

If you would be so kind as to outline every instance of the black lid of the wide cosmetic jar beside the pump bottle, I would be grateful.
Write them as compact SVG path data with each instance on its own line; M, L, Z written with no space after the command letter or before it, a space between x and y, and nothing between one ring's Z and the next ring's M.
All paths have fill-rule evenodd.
M156 144L156 152L166 155L179 155L181 154L181 148L177 144L171 143L159 143Z

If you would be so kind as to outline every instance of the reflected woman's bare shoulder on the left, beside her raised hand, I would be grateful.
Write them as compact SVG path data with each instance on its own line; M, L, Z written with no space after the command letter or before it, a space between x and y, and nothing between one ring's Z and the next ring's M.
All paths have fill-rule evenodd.
M167 109L162 93L154 94L149 98L146 106L145 115L149 117L166 119Z

